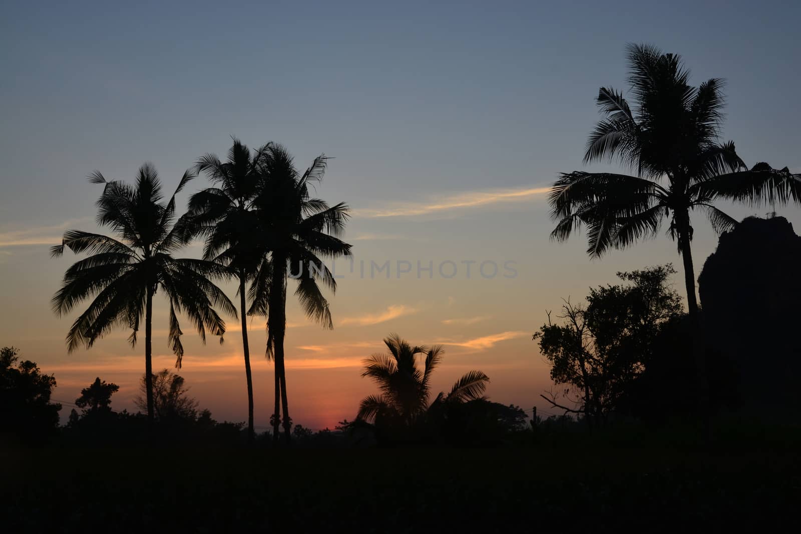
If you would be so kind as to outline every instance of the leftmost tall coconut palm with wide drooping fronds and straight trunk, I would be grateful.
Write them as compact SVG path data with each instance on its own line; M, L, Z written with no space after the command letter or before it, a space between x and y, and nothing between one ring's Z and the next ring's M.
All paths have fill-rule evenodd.
M75 319L66 335L68 350L91 347L113 327L128 327L128 341L135 347L139 325L145 323L145 380L147 419L153 421L152 317L153 295L159 289L170 303L168 344L175 353L175 367L181 367L183 344L178 314L185 313L203 342L206 332L223 341L225 323L213 306L236 315L236 308L209 277L227 275L225 267L203 259L175 259L172 253L183 246L186 219L175 221L175 195L194 175L187 171L175 193L162 203L161 182L155 168L139 168L134 187L108 181L99 172L91 183L103 183L97 202L97 221L109 227L115 237L87 231L64 233L62 244L52 247L60 256L67 247L74 253L91 253L67 269L61 289L53 297L57 315L92 299L87 310Z

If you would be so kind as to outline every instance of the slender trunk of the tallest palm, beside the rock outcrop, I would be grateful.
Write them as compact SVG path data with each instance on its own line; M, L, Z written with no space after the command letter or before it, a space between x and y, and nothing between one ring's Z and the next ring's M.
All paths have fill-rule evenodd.
M690 327L692 328L692 347L693 359L695 363L695 387L698 395L698 416L701 420L705 432L708 434L709 427L709 387L706 381L706 355L704 354L703 331L701 328L701 314L698 311L698 299L695 297L695 271L693 269L693 256L690 249L689 224L684 231L679 232L678 246L682 252L682 262L684 263L684 283L687 290L687 311L690 315Z

